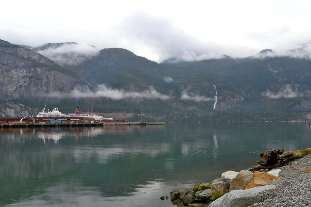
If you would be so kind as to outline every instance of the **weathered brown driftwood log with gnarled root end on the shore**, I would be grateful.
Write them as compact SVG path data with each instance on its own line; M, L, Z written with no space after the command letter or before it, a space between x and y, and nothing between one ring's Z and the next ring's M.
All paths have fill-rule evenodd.
M258 155L261 157L261 159L257 161L257 163L260 165L250 169L250 171L254 172L260 169L272 169L277 166L281 166L290 160L302 158L303 156L309 154L311 154L311 148L292 152L285 152L283 148L278 150L268 150L265 153L260 152Z

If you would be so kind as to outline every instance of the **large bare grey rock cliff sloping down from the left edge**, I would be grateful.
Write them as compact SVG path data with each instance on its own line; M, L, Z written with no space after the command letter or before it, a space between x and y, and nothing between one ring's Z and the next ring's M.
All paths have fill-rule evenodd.
M81 84L85 82L50 59L0 40L0 101L47 99L47 94Z

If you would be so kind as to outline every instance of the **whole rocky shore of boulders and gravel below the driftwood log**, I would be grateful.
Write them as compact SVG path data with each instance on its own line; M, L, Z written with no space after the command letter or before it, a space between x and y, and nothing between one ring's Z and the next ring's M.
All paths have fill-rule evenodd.
M311 155L271 171L228 171L170 198L177 207L311 207Z

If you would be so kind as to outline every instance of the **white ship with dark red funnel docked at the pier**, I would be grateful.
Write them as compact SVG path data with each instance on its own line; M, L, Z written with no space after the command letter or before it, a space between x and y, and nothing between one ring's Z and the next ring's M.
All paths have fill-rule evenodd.
M54 108L52 111L48 110L48 112L45 112L45 107L46 105L44 106L42 112L38 113L37 117L83 117L83 120L113 120L112 118L104 118L103 116L99 116L94 113L82 113L79 107L76 108L75 113L69 114L58 111L58 108Z

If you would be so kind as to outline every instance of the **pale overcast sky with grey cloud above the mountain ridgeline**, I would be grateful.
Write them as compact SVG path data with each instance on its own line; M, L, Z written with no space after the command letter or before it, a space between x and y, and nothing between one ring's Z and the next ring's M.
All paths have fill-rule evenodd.
M125 48L157 62L247 57L311 41L310 8L309 0L6 0L0 39Z

